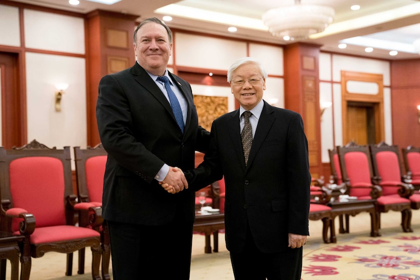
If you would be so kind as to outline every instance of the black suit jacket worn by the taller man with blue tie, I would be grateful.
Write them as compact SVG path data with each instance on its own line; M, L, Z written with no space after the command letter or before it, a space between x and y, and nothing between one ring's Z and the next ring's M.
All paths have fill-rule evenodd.
M96 118L108 152L102 200L106 220L160 225L177 215L193 222L194 191L169 194L154 179L164 163L194 168L195 150L205 152L210 140L210 133L198 127L191 86L169 75L188 103L184 134L169 101L138 63L99 83Z

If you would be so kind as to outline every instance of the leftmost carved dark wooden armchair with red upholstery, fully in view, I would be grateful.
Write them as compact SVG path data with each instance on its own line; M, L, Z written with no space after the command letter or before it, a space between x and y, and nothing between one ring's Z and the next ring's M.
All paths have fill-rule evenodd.
M0 147L1 230L21 234L20 280L28 280L31 257L54 251L67 254L66 275L72 274L73 252L92 249L92 279L100 280L100 235L74 225L70 148L48 148L32 141L21 148ZM101 221L91 209L92 222ZM70 261L69 261L70 260Z

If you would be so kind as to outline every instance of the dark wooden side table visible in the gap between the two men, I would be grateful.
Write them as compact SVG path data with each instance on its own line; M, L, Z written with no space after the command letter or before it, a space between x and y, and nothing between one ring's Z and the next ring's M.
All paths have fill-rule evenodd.
M206 235L204 253L211 253L210 235L213 233L213 252L219 251L219 229L225 228L224 213L209 213L202 215L195 212L195 223L192 230L202 232Z

